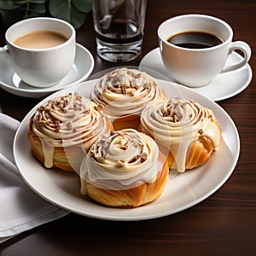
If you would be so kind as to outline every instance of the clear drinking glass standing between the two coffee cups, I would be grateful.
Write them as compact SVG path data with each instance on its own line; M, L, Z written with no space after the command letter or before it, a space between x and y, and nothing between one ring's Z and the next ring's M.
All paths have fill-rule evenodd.
M94 0L97 54L112 62L132 61L142 51L147 0Z

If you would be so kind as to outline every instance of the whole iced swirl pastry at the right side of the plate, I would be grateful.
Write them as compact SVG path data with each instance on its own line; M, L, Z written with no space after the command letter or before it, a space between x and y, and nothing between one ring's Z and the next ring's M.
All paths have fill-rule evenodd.
M204 164L221 139L212 110L180 98L144 108L138 130L154 137L162 152L167 149L169 168L178 172Z

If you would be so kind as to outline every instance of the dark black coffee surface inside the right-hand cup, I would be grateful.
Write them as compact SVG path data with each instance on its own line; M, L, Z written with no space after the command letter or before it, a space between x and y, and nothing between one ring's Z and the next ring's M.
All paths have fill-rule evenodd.
M167 38L167 41L190 49L204 49L223 43L220 38L207 32L181 32Z

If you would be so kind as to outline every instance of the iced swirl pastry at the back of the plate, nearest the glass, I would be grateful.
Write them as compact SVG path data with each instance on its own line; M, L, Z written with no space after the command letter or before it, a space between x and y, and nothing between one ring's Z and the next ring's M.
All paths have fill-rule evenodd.
M114 130L122 130L137 129L146 104L166 99L166 93L147 73L121 68L104 75L90 98L105 107L103 112L113 121Z

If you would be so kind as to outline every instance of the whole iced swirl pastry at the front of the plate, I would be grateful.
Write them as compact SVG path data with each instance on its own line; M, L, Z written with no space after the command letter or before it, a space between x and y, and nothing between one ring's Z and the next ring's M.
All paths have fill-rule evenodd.
M139 207L162 194L168 173L151 137L133 129L110 131L82 161L81 193L109 207Z

